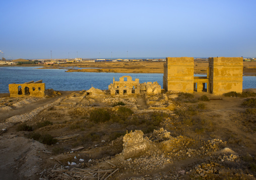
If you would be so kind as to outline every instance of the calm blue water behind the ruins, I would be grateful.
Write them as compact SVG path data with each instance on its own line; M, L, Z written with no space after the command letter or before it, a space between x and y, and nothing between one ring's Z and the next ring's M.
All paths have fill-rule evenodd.
M132 76L143 82L157 81L163 86L163 74L144 73L87 73L65 72L65 69L35 69L38 67L0 67L0 93L8 93L8 84L25 83L29 81L43 80L46 89L61 91L88 90L92 86L98 89L108 89L113 82L113 77L119 81L121 76ZM202 76L202 75L198 75ZM205 75L203 75L205 76ZM243 77L243 89L256 88L255 76Z

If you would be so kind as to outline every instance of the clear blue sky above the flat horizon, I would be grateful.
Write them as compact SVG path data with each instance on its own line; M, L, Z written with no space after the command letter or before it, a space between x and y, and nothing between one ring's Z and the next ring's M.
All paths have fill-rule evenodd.
M14 59L256 57L256 1L2 1Z

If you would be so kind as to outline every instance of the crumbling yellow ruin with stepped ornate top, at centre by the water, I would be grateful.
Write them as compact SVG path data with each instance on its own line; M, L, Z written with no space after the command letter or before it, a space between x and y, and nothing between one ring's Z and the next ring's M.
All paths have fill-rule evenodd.
M131 76L122 76L119 81L113 78L113 84L108 86L111 95L131 95L140 94L140 91L146 91L147 94L161 93L161 86L157 82L147 82L140 84L139 79L132 80Z

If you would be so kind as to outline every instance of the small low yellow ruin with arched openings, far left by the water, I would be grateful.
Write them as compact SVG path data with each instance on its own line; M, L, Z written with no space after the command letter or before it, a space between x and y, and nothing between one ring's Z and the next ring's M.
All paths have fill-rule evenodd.
M20 97L20 96L34 96L34 97L44 97L45 96L45 83L43 80L30 81L24 84L9 84L10 97Z

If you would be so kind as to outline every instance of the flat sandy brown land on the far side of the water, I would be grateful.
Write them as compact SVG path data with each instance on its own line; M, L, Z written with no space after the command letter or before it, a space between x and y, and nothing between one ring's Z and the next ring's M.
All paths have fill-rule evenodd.
M67 68L67 72L110 72L110 73L163 73L163 64L165 62L86 62L86 63L71 63L71 64L54 64L43 65L43 68L67 68L80 67L90 69L71 69ZM195 61L195 74L207 74L208 61ZM22 65L26 66L26 65ZM42 66L42 65L37 65ZM256 61L243 62L243 75L256 76Z

